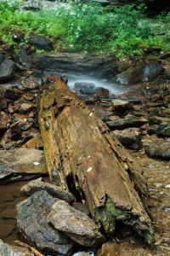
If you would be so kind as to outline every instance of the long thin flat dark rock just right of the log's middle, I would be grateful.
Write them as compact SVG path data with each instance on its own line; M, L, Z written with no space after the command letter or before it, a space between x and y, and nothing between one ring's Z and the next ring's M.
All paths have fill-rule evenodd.
M127 116L125 119L118 119L106 122L111 130L123 130L130 127L140 127L147 123L143 117Z

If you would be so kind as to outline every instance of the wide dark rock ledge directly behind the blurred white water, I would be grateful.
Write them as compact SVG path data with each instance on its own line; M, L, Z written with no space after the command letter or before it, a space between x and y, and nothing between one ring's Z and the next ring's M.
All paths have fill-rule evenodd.
M97 55L80 55L75 53L38 54L31 60L31 66L41 71L47 71L68 77L68 73L82 73L103 77L113 77L117 73L115 57L100 57ZM69 78L69 77L68 77Z

